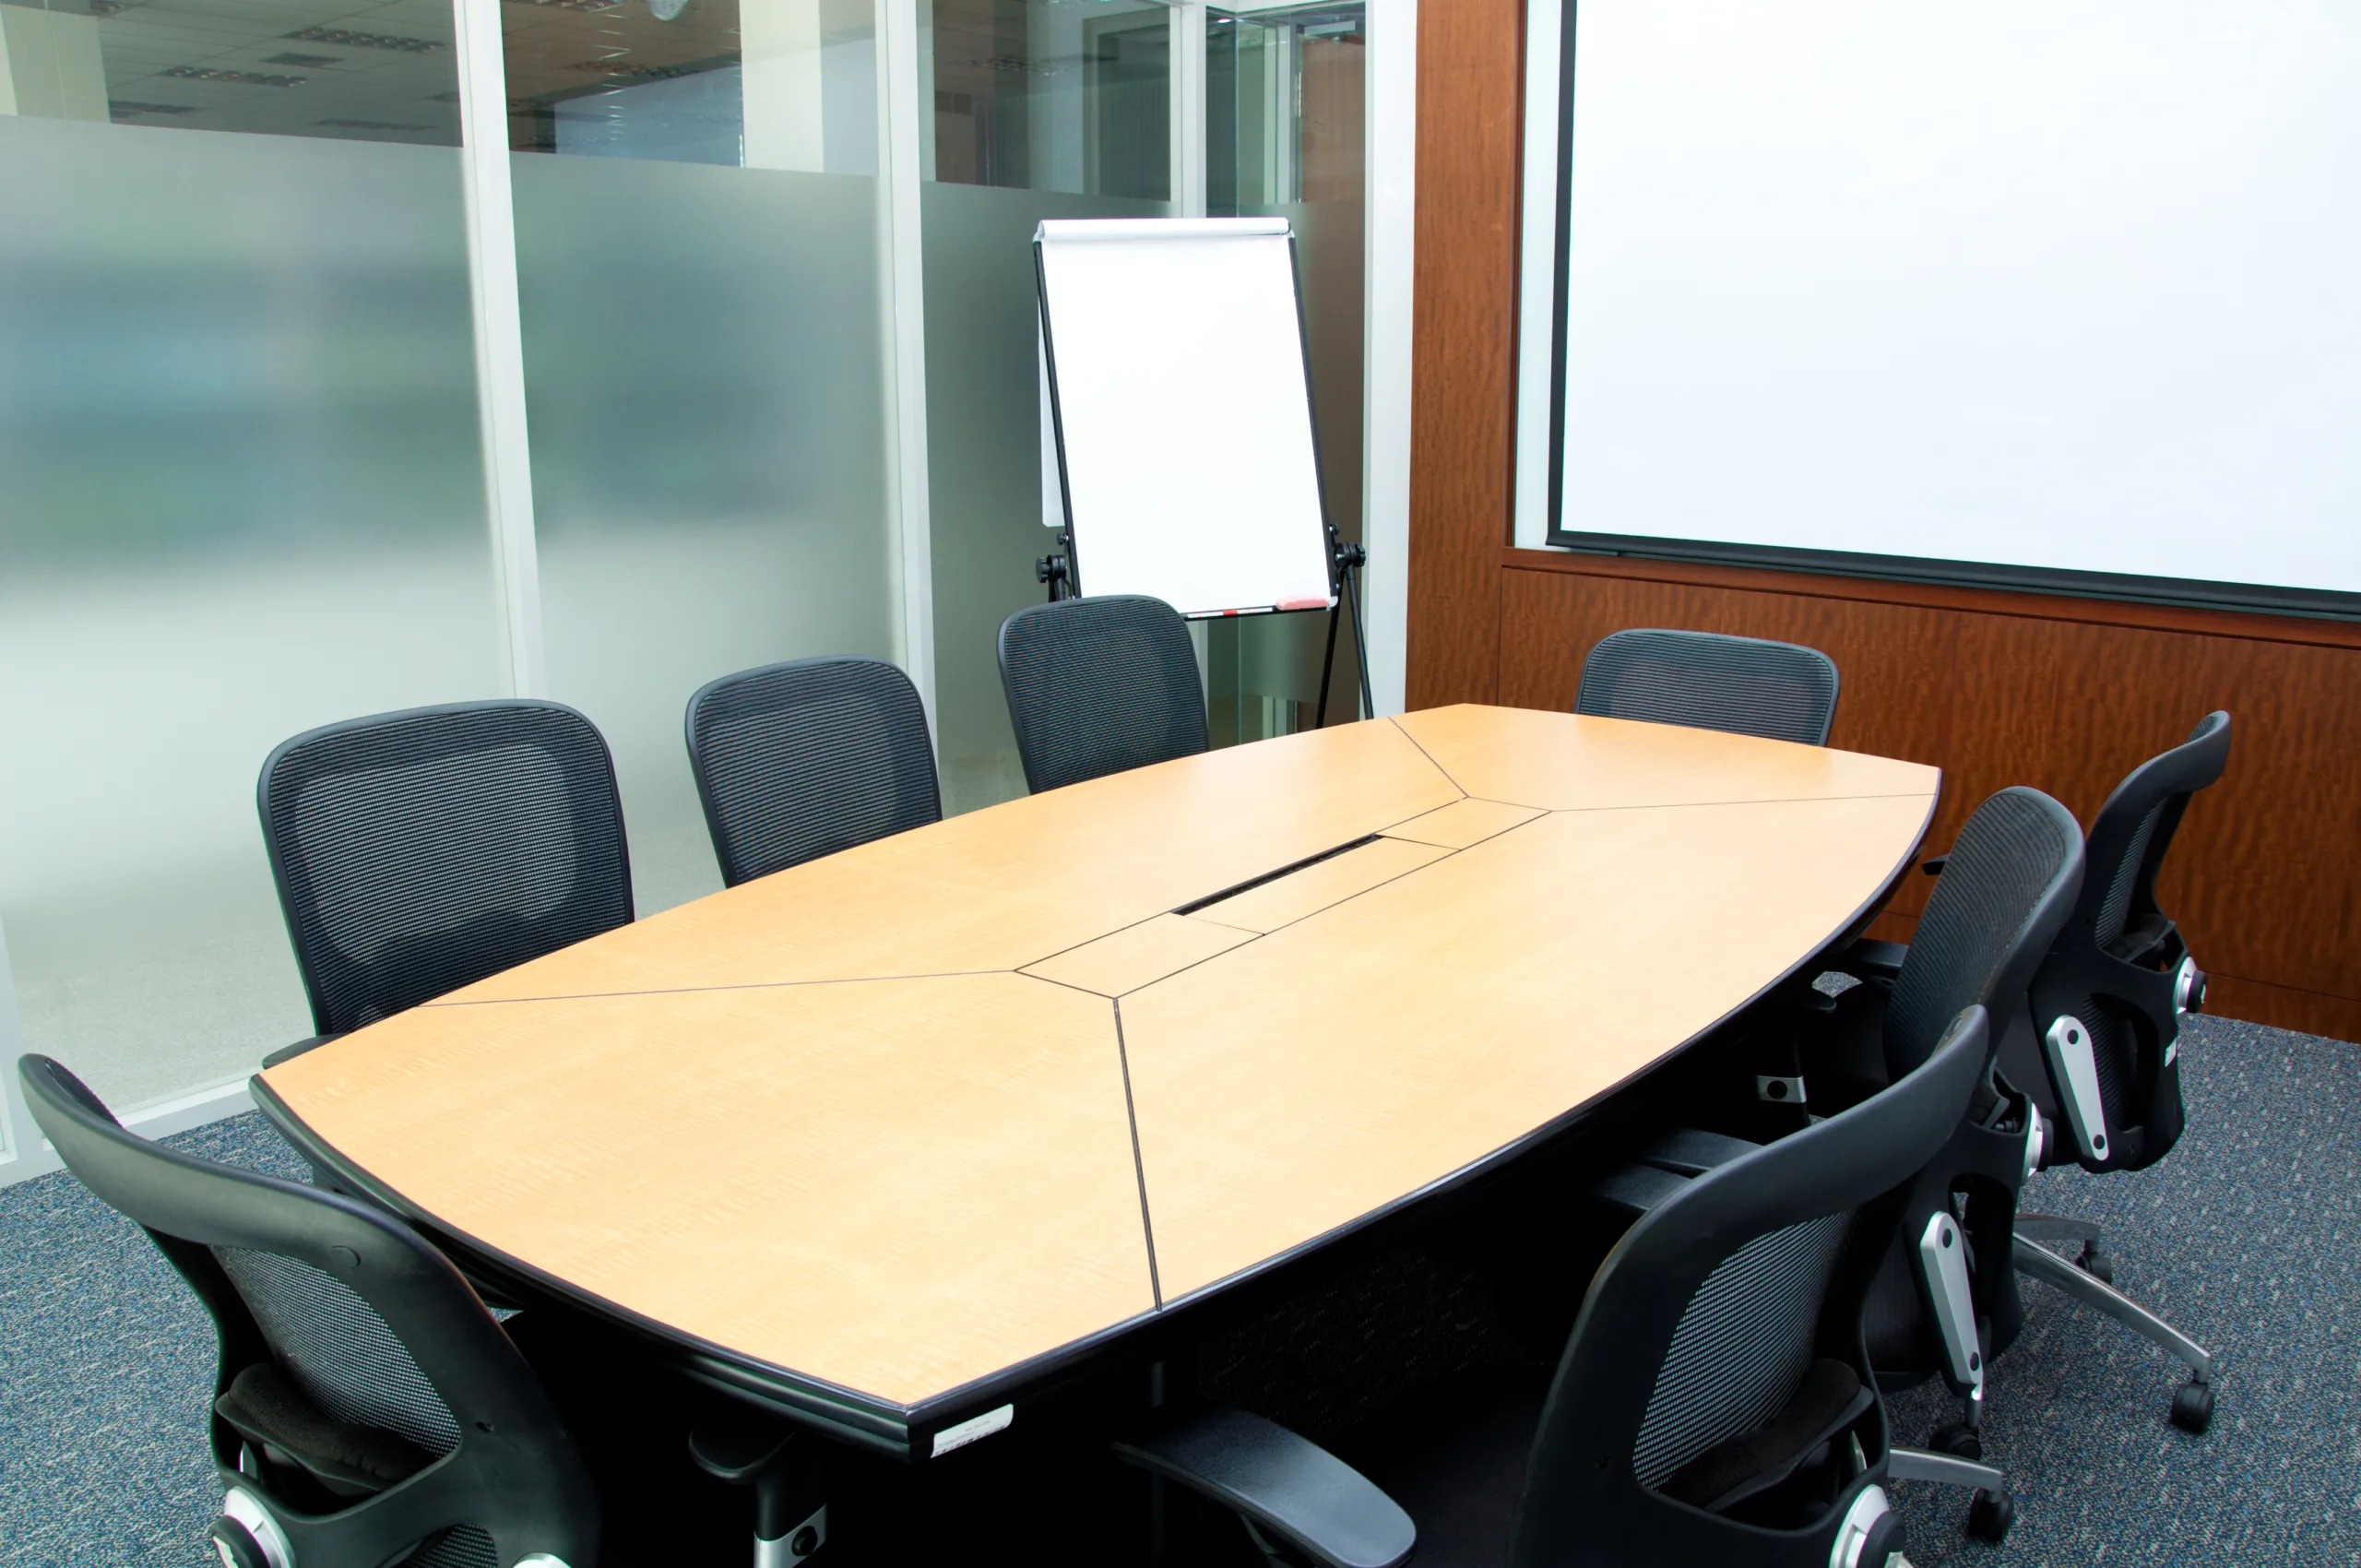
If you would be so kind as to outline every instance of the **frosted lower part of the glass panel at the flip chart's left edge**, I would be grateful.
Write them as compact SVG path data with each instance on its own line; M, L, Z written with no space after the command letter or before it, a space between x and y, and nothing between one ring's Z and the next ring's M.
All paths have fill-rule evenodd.
M1032 236L1044 217L1171 217L1164 201L926 184L926 444L935 520L935 749L942 808L1025 793L994 656L1044 597L1041 392Z

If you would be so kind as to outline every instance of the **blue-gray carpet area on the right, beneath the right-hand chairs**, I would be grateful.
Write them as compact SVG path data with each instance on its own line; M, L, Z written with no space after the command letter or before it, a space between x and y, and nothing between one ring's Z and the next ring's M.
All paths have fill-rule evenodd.
M1986 1443L2016 1528L1993 1549L1960 1492L1894 1488L1919 1568L2361 1566L2361 1046L2198 1018L2182 1093L2163 1162L2042 1171L2023 1207L2106 1226L2115 1287L2212 1351L2212 1431L2165 1419L2179 1363L2026 1282ZM1948 1417L1938 1389L1894 1400L1905 1443Z

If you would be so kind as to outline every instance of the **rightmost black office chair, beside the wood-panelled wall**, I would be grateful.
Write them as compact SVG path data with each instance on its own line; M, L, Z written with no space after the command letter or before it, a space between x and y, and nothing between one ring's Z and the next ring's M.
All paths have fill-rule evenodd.
M2205 1006L2205 971L2156 904L2156 871L2189 798L2229 765L2229 713L2210 713L2189 739L2149 758L2115 786L2089 824L2089 876L2073 916L2033 975L2033 1018L2052 1020L2009 1041L2004 1070L2049 1122L2042 1164L2139 1171L2182 1136L2179 1032ZM2054 1214L2016 1216L2016 1268L2064 1289L2189 1365L2172 1422L2212 1424L2212 1358L2193 1339L2113 1289L2099 1226ZM2038 1242L2080 1242L2080 1268Z

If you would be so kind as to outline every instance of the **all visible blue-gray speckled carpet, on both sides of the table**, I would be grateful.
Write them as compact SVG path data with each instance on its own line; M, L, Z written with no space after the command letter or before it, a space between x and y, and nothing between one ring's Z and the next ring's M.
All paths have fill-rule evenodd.
M1967 1540L1962 1495L1901 1485L1922 1568L2361 1568L2361 1046L2196 1020L2182 1060L2163 1164L2049 1171L2026 1207L2106 1223L2118 1287L2215 1351L2212 1431L2165 1422L2179 1374L2146 1341L2026 1285L1988 1419L2016 1530ZM260 1117L172 1143L302 1174ZM0 1190L0 1563L210 1563L210 1325L146 1237L68 1176ZM1894 1424L1917 1440L1943 1415L1915 1391Z

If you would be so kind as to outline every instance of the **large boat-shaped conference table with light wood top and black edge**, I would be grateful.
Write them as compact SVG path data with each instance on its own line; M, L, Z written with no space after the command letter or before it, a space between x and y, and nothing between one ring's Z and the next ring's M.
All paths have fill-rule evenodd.
M1452 706L666 909L255 1079L463 1263L871 1450L1499 1169L1858 930L1938 772Z

